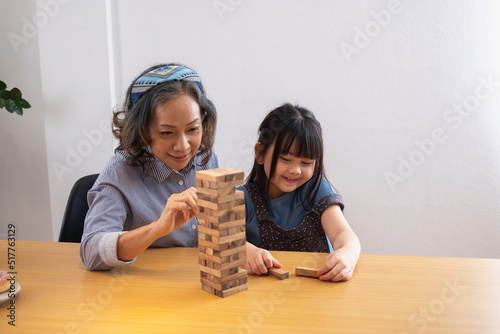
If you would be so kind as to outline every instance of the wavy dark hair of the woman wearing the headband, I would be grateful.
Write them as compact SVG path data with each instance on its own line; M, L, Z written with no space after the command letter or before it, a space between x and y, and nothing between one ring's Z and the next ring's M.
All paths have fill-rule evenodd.
M135 104L132 102L132 87L138 78L156 68L174 65L184 66L178 63L159 64L142 72L129 86L123 107L113 112L113 135L119 141L118 149L129 154L127 164L131 166L142 166L144 169L145 162L153 158L147 148L151 142L149 124L155 109L182 94L191 96L200 106L203 134L198 155L203 156L201 164L206 165L212 156L217 111L196 83L187 80L167 81L148 90Z

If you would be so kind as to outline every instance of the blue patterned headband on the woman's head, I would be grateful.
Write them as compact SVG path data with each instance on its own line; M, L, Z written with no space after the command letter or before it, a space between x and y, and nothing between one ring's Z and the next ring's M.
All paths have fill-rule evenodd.
M136 104L144 93L158 84L181 80L193 81L198 85L201 92L205 94L200 77L195 71L185 66L163 66L149 71L135 81L130 94L132 103Z

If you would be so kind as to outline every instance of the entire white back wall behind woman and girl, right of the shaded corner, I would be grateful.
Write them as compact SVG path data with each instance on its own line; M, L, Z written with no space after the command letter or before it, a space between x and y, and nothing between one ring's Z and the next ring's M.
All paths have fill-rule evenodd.
M115 94L153 63L181 61L218 107L224 166L249 171L270 109L316 113L364 253L500 257L493 2L41 0L39 13L50 12L40 3L54 12L38 35L54 237L73 182L112 154L100 123ZM2 219L21 220L17 209L2 198Z

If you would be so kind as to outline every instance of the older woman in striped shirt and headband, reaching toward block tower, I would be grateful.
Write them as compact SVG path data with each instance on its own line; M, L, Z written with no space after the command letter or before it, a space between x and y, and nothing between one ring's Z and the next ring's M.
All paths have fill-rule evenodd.
M80 248L89 270L135 261L148 247L195 247L195 172L218 167L217 112L198 74L182 64L145 70L114 113L119 140L88 193Z

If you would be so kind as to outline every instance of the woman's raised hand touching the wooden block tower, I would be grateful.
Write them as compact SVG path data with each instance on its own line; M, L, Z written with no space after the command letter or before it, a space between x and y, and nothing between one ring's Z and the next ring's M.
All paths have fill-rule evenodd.
M180 194L172 194L156 221L160 234L166 235L182 227L198 214L198 195L196 188L191 187Z

